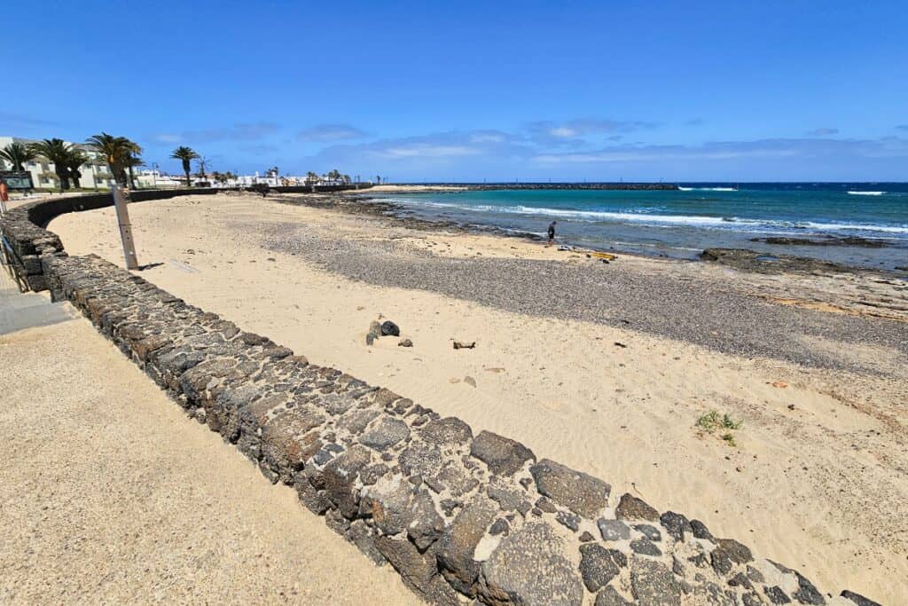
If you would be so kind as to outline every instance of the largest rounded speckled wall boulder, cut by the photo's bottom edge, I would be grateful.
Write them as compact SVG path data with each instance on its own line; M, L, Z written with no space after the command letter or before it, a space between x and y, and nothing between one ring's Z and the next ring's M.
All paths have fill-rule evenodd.
M513 532L482 564L491 603L580 606L583 585L564 555L564 541L544 523Z

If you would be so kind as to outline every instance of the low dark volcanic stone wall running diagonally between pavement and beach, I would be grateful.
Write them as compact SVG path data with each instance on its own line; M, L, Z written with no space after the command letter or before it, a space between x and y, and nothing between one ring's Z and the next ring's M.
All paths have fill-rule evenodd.
M54 299L426 601L874 603L823 593L704 522L308 363L97 256L48 250L42 263Z

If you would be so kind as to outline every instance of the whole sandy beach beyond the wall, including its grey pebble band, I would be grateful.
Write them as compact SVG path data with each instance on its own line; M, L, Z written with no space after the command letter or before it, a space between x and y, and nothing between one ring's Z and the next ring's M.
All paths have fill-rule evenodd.
M142 275L311 362L700 518L824 586L908 601L903 283L630 255L606 264L333 199L133 204ZM111 208L49 229L69 253L123 264ZM413 346L367 346L379 318ZM698 424L713 411L740 427Z

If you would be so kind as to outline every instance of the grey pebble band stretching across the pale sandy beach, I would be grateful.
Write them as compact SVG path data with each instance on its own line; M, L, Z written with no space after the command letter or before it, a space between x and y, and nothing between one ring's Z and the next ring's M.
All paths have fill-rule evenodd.
M427 228L425 222L413 221L400 225ZM667 268L649 273L620 260L604 264L570 252L564 254L574 255L576 263L485 255L450 258L415 251L398 239L329 240L294 224L262 225L256 232L271 250L301 256L364 283L441 293L508 312L632 328L721 353L889 373L879 364L857 364L805 343L822 336L908 352L905 323L767 304L706 275L675 275Z

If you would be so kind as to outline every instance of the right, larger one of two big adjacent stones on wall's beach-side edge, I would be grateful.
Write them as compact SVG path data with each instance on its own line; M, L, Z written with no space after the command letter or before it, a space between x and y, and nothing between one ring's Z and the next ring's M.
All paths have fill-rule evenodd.
M586 473L543 459L529 468L539 493L587 518L595 518L608 504L611 486Z

